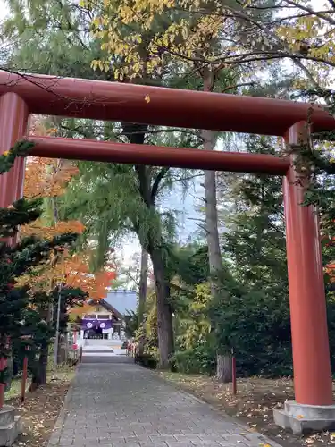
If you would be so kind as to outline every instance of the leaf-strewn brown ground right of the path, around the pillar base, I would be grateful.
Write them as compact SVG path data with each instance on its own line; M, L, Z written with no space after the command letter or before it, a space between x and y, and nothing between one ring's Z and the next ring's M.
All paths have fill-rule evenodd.
M250 432L265 434L284 447L315 447L335 443L335 433L322 432L310 436L295 436L275 426L272 410L281 409L286 399L294 399L293 382L289 377L271 380L251 377L238 380L238 394L233 396L231 384L222 384L214 377L159 373L164 379L191 392L214 408L232 417L239 417ZM267 444L264 444L267 445Z

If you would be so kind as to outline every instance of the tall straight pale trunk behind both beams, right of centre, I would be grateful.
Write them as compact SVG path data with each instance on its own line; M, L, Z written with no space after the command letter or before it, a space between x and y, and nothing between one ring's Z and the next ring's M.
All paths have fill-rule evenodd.
M204 90L211 91L214 84L214 73L211 70L204 72ZM201 137L206 150L214 150L214 131L202 131ZM220 239L218 230L218 215L216 201L216 174L214 171L205 171L205 228L207 233L209 270L211 274L211 291L213 296L217 296L218 275L222 271L222 255L220 249ZM222 347L224 350L224 347ZM217 353L216 376L223 383L232 380L230 354L222 355Z

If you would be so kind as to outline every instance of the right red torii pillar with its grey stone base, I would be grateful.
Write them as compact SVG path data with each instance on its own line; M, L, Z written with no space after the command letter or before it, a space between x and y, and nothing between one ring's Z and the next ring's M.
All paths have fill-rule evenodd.
M285 137L288 145L308 142L306 122L297 122ZM294 148L293 148L294 152ZM289 271L295 401L274 410L275 422L296 434L335 428L331 361L323 283L319 219L314 207L304 207L307 170L291 165L283 181Z

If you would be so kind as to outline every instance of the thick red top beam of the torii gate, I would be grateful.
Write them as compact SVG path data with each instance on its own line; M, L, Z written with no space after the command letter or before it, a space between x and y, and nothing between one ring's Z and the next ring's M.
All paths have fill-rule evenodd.
M20 95L31 114L283 136L313 110L315 131L335 128L322 107L283 99L0 71L6 92Z

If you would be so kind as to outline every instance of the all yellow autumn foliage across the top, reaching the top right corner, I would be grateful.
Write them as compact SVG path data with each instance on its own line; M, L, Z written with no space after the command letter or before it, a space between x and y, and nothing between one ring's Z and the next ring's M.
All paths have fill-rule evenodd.
M313 8L306 0L286 0L275 8L277 20L257 16L255 0L97 0L94 6L80 0L80 5L91 13L92 36L105 52L92 68L113 71L117 80L160 76L171 58L197 70L242 63L250 73L291 58L309 86L312 80L325 86L335 67L335 7L329 3ZM261 9L266 13L266 5Z

